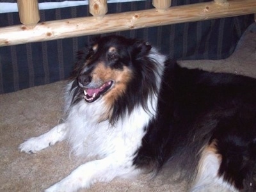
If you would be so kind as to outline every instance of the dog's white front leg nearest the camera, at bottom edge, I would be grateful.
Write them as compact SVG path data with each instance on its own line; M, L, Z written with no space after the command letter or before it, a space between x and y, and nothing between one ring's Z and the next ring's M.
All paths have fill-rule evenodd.
M122 155L121 155L122 156ZM95 182L108 182L119 175L132 171L131 161L120 161L120 157L106 157L82 164L65 179L46 189L47 192L71 192L81 188L89 188Z

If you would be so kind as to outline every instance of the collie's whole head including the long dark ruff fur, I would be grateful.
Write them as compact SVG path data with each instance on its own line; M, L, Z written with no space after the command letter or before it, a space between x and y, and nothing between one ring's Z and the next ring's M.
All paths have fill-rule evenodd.
M104 114L100 120L108 118L113 125L134 108L152 113L165 61L165 56L143 40L98 38L78 54L71 105L81 99L90 104L100 101Z

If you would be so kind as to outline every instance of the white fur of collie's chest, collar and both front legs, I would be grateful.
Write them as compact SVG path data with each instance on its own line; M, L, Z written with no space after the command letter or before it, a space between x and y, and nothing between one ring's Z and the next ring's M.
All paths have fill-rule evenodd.
M158 54L156 49L151 51L150 56L159 61L159 71L156 74L159 88L163 62L166 58ZM68 84L67 90L71 84L72 82ZM150 118L156 115L157 95L148 98L149 113L141 106L136 106L131 115L119 119L114 126L111 126L107 120L99 122L100 116L106 110L104 97L91 104L81 100L72 108L68 107L70 102L70 96L67 95L68 115L63 124L57 125L41 136L25 141L19 148L22 152L37 152L66 138L74 154L97 157L97 160L82 164L46 191L77 191L79 188L88 188L97 181L107 182L115 177L129 177L140 173L140 170L136 170L132 165L132 159L141 146L145 126Z

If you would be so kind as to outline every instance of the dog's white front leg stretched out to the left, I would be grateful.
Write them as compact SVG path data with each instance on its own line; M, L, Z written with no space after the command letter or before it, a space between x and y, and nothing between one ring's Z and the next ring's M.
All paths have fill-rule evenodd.
M24 143L21 143L19 146L20 152L26 152L28 154L36 153L44 148L54 145L58 141L64 140L66 134L67 127L65 127L65 123L56 125L50 131L45 132L45 134L35 138L29 138Z

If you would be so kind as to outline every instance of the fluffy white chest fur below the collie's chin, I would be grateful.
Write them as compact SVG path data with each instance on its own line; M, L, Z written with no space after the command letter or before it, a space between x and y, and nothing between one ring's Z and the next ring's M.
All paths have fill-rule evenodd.
M141 145L144 127L150 115L140 106L131 115L122 118L115 125L108 120L99 122L104 113L102 100L88 104L81 100L73 106L65 122L67 139L76 155L106 157L120 151L132 156L134 149ZM102 110L99 110L102 109Z

